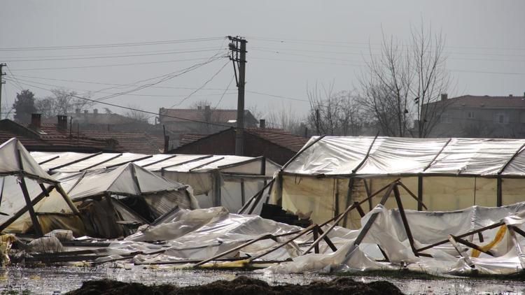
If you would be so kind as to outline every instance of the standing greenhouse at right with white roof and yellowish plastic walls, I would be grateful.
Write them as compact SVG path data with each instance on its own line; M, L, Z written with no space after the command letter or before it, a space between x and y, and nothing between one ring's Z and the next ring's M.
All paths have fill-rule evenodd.
M272 201L322 222L399 178L405 209L510 205L524 200L524 146L524 139L313 137L279 171ZM360 216L343 224L358 228Z

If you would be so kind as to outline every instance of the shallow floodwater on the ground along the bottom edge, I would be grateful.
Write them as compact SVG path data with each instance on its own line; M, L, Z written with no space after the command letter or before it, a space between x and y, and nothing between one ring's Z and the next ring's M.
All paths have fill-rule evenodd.
M179 287L202 285L216 280L233 280L239 275L258 278L269 285L283 283L309 284L315 280L328 281L334 275L265 275L250 271L190 271L174 268L131 269L98 267L2 268L0 294L62 294L78 289L85 280L111 279L121 282L141 282L145 285L174 284ZM405 294L525 294L525 282L506 280L443 279L420 280L381 278L353 275L353 280L371 282L388 280Z

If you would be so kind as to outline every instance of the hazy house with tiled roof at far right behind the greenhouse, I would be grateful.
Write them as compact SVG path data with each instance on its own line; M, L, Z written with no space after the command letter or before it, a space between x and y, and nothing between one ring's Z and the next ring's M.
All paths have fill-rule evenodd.
M447 99L429 137L525 138L525 96L463 95Z

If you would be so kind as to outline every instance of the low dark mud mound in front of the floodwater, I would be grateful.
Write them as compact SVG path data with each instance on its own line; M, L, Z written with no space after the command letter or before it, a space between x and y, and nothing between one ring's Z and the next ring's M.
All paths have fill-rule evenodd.
M172 285L146 286L137 282L118 282L113 280L92 280L84 282L80 289L71 291L70 295L95 294L402 294L390 282L376 281L365 284L351 278L337 278L330 282L311 282L309 285L279 285L270 286L267 282L240 276L235 280L218 280L207 285L176 287Z

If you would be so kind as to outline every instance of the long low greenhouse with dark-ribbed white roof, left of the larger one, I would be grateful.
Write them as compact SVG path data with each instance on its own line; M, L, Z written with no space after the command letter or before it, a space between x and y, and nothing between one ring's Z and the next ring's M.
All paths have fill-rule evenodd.
M133 161L148 171L190 185L200 207L225 206L235 212L242 196L248 201L280 167L263 157L202 154L133 154L32 152L52 173L76 173L114 167ZM61 176L62 177L62 176ZM244 192L243 192L244 189Z

